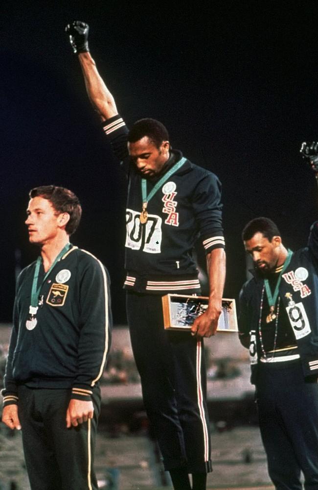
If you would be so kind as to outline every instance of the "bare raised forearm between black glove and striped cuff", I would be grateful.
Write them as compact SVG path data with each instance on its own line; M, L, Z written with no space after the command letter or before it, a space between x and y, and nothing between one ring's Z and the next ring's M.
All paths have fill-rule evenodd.
M102 121L118 114L114 97L98 73L95 61L89 52L79 53L78 59L84 75L87 94Z

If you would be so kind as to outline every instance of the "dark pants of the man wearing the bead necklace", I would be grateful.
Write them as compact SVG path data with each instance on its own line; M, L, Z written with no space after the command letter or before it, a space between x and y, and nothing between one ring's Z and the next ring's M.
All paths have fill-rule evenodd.
M259 365L256 396L269 475L278 490L318 489L318 384L300 361Z

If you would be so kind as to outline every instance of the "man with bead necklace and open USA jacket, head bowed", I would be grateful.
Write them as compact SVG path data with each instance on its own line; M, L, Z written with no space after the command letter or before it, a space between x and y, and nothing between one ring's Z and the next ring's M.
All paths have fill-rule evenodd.
M302 146L318 172L317 144ZM316 164L315 164L316 161ZM255 218L242 233L253 277L240 293L239 338L250 349L251 382L269 475L276 489L318 488L318 221L292 252L276 224Z

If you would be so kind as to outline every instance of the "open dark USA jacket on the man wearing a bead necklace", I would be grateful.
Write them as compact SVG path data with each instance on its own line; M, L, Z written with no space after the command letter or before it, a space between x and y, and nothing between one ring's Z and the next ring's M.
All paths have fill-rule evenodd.
M250 360L255 383L258 366L257 335L264 279L255 274L240 293L239 336L250 335ZM305 377L318 374L318 221L311 227L308 246L293 253L282 275L279 296L295 333Z

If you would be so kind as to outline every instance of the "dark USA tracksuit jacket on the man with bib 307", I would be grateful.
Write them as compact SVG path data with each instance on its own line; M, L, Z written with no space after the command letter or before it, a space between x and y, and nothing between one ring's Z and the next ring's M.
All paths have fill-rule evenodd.
M198 271L192 258L198 236L206 254L225 247L219 179L186 159L148 202L148 221L140 226L142 175L129 159L128 128L117 115L104 124L104 131L128 175L124 287L150 294L199 289ZM181 158L180 151L172 151L164 171L147 179L147 193Z

